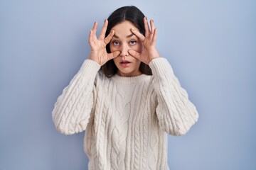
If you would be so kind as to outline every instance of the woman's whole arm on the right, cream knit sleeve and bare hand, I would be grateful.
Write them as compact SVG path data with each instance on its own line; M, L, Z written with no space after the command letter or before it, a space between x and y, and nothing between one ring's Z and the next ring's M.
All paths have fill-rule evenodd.
M150 27L149 27L150 23ZM171 135L183 135L198 120L198 113L188 94L175 77L169 62L162 58L156 49L157 30L154 21L144 18L145 36L137 30L131 30L143 43L142 52L129 50L129 54L149 64L154 77L154 89L158 97L156 107L160 127Z

